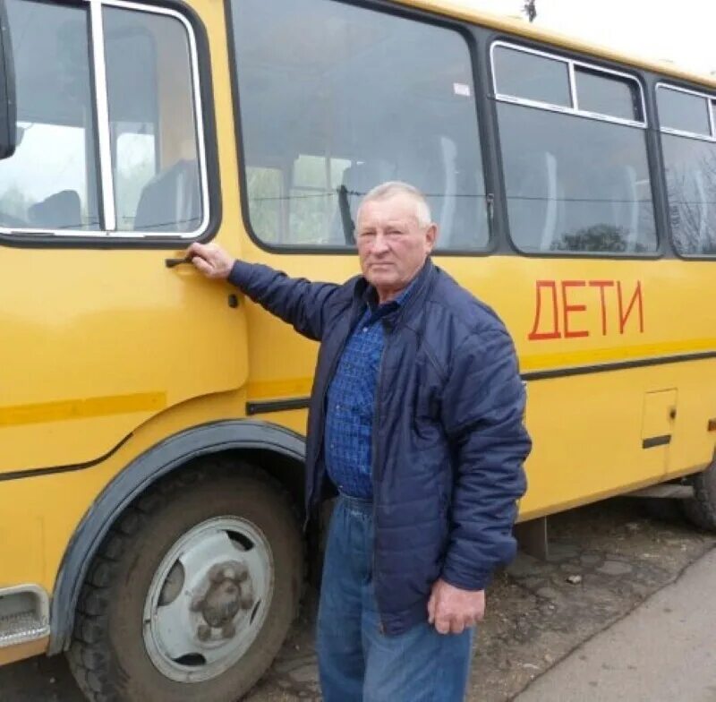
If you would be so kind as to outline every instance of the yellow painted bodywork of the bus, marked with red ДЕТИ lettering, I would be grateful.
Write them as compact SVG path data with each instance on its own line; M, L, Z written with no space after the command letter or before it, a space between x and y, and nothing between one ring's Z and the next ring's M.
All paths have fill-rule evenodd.
M443 3L402 4L557 42L524 23L490 23ZM221 193L215 240L246 261L343 283L360 271L354 252L279 252L250 235L241 206L244 164L236 158L224 6L196 0L192 8L209 37L210 56L200 61L210 61L212 83L204 88L215 124L206 126L216 130L218 142L217 172L209 173L209 186ZM571 39L545 47L585 50ZM595 56L625 60L610 52ZM168 129L171 93L161 96L169 106ZM183 150L181 139L174 140L170 129L167 134L166 160ZM507 238L504 231L495 234ZM241 421L251 407L251 419L305 431L305 410L281 403L306 404L317 345L242 295L232 306L234 290L203 280L191 267L166 268L166 258L181 255L181 246L150 244L0 245L0 329L7 339L0 345L0 534L13 535L0 540L0 587L33 583L52 595L95 502L126 467L167 438ZM695 473L711 462L712 261L503 250L436 255L435 262L494 307L515 339L534 442L520 518ZM68 578L72 582L72 573ZM72 612L64 614L66 627ZM53 634L64 643L62 631ZM42 639L0 648L0 663L47 645Z

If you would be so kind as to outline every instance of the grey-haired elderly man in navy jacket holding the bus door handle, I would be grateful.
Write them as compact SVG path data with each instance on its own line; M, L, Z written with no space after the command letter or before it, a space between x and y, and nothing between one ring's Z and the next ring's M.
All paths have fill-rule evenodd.
M194 265L319 340L306 505L338 499L318 618L326 702L458 702L493 569L515 553L530 440L497 315L430 261L422 194L386 183L361 203L362 276L287 278L192 244Z

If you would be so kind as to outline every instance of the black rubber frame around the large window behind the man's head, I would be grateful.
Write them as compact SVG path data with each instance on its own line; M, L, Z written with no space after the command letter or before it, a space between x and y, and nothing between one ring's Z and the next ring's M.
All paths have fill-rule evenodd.
M248 182L246 177L246 161L245 149L243 143L243 123L241 116L241 92L239 90L239 63L236 55L236 43L234 39L234 0L224 0L224 16L226 18L226 40L229 56L229 73L231 76L231 95L234 105L234 135L236 143L236 158L238 163L239 188L241 215L244 231L251 239L251 243L255 244L260 250L268 253L276 253L281 255L342 255L355 256L358 253L357 246L297 246L294 244L270 244L261 239L251 225L251 217L249 213L249 197ZM489 109L489 100L487 96L487 86L483 84L482 73L480 72L481 51L480 42L476 37L475 30L480 30L480 25L472 24L467 21L452 19L445 15L430 13L417 8L405 5L382 4L376 2L365 2L364 0L330 0L337 4L348 4L363 10L369 10L374 13L383 15L391 15L410 21L419 21L422 24L428 24L432 27L438 27L444 30L450 30L460 35L465 41L469 56L469 67L473 79L473 106L474 118L477 122L478 149L482 160L482 180L485 187L485 209L486 221L489 233L489 242L482 249L438 249L432 252L433 257L456 257L456 258L484 258L499 253L501 248L499 228L496 227L496 218L494 214L490 216L490 212L494 213L494 191L495 185L499 183L499 176L491 174L488 166L489 143L486 137L486 121L488 119L486 113ZM491 127L490 127L491 129ZM490 205L490 196L492 196L493 204Z

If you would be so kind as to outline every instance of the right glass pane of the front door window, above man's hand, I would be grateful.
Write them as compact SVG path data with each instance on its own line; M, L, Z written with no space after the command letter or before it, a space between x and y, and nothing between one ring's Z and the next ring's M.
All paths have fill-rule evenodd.
M117 228L200 228L198 138L189 41L175 17L103 11Z

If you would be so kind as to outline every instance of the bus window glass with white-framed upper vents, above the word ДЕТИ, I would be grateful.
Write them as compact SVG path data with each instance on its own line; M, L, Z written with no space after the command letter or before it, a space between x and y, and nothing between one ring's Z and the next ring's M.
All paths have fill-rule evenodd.
M638 83L581 65L570 73L567 59L528 50L516 60L521 51L493 51L514 244L525 253L655 252ZM545 91L537 78L548 75Z

